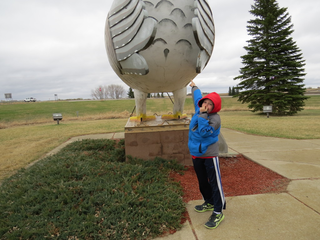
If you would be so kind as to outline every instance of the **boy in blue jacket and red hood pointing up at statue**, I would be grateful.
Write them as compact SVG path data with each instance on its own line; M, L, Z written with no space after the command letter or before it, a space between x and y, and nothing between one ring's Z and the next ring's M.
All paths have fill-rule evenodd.
M213 229L224 219L222 209L226 209L218 158L221 120L217 112L221 109L221 98L216 92L202 98L200 90L192 80L190 87L195 115L191 118L189 126L188 147L199 190L204 198L204 204L195 206L195 210L213 211L209 221L204 224L206 228Z

